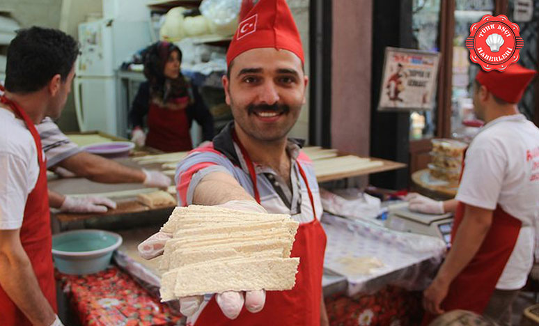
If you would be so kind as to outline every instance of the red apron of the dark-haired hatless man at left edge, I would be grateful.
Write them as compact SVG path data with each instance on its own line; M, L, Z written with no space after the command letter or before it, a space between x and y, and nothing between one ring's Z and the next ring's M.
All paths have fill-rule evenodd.
M24 219L20 229L22 247L32 264L41 292L56 312L56 287L54 283L54 267L52 264L52 234L49 213L49 196L47 192L47 167L41 148L41 139L36 126L30 120L24 110L15 102L5 97L0 102L8 104L15 115L23 118L26 127L30 130L38 150L39 176L36 187L26 199L24 207ZM0 286L0 325L31 325L17 306L10 300L6 292Z

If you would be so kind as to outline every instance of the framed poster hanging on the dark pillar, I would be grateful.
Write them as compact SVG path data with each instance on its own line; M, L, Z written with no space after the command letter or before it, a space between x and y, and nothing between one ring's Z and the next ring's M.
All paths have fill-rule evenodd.
M378 111L435 107L439 53L386 47Z

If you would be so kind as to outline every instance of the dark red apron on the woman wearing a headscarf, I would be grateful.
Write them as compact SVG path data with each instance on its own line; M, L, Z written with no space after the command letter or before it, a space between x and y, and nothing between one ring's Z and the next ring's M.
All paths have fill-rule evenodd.
M178 100L181 100L179 102L185 102L183 98ZM173 110L151 102L150 111L148 112L146 146L164 152L192 150L186 109Z

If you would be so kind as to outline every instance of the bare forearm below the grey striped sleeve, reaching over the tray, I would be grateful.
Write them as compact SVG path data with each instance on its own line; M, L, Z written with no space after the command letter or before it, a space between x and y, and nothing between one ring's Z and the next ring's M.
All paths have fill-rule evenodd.
M72 155L58 165L75 173L76 176L97 183L143 183L146 178L141 169L86 152Z

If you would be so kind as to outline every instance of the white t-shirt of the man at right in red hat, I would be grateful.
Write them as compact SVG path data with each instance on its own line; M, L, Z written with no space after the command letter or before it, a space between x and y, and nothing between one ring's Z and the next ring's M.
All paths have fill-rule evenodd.
M539 129L522 114L497 118L476 135L464 164L456 199L487 210L500 205L522 222L496 286L500 290L522 288L533 265L539 218Z

